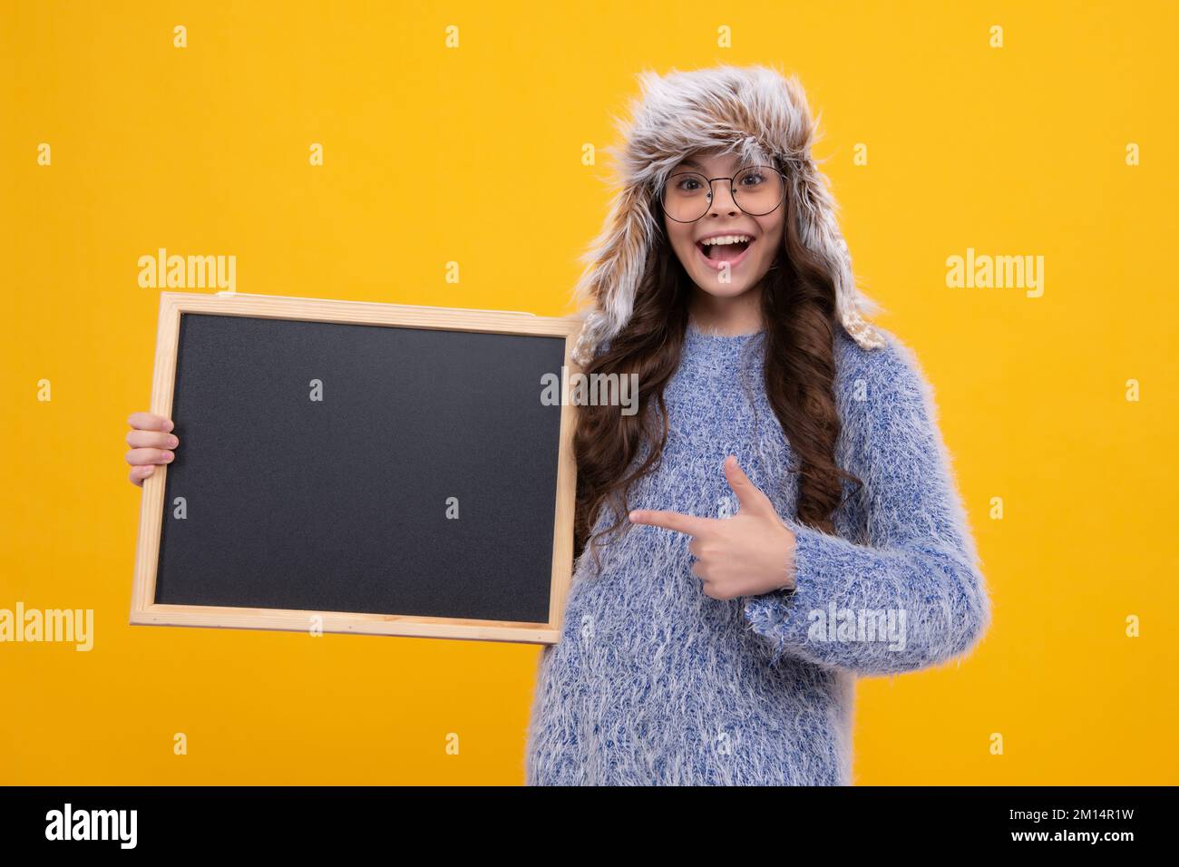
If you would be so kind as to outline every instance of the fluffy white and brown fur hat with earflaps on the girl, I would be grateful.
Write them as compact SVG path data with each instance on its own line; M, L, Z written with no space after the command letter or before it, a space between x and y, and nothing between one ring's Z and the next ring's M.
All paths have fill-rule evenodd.
M660 232L656 192L690 152L716 149L742 160L782 164L799 206L799 237L830 268L843 327L865 349L883 347L884 337L864 318L880 304L855 284L835 198L811 157L817 124L797 78L766 66L723 65L666 75L648 70L639 73L639 83L643 96L632 100L631 119L615 119L623 144L606 149L617 170L610 214L579 260L585 271L574 296L588 310L574 360L587 364L634 310Z

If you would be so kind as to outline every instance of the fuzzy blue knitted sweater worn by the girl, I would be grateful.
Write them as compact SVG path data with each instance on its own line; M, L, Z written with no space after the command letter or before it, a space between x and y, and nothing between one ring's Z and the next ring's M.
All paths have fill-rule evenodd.
M630 505L731 515L735 454L797 536L797 586L705 596L691 538L661 527L628 525L598 570L582 552L561 639L541 651L528 784L849 784L856 677L979 642L990 604L929 383L891 333L870 350L837 335L836 461L864 488L830 536L795 517L797 459L762 383L764 335L690 326L663 460ZM597 526L613 520L604 508Z

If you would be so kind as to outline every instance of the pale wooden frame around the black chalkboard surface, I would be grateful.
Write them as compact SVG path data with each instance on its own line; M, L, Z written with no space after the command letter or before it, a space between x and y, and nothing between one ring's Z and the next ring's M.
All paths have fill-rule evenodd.
M180 316L185 313L565 337L564 363L569 374L578 369L572 359L574 340L581 326L581 320L577 316L547 317L529 313L410 307L236 293L218 295L162 293L151 412L165 418L171 418L172 414ZM315 624L311 618L318 616L322 620L315 625L323 632L555 644L561 635L561 617L573 570L573 508L577 487L577 466L572 447L574 410L575 407L572 402L562 401L556 499L554 503L553 571L547 623L468 620L345 611L157 604L154 602L156 574L159 565L159 541L163 530L166 465L157 466L156 472L144 481L143 486L139 541L131 596L131 623L303 632L311 630L312 624Z

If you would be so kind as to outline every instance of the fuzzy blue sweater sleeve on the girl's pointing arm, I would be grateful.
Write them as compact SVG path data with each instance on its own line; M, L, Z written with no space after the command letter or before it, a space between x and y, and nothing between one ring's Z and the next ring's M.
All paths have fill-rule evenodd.
M782 519L796 536L795 587L744 604L771 664L790 653L858 675L914 671L973 650L990 623L933 392L894 341L856 374L867 395L845 413L865 444L857 475L871 544Z

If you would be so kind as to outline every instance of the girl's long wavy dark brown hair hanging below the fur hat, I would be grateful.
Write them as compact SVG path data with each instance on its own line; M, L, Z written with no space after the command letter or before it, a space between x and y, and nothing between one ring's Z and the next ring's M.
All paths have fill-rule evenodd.
M823 261L802 243L793 196L788 195L783 249L762 282L765 326L765 393L798 458L797 519L835 532L832 513L842 505L842 480L863 482L836 466L842 421L835 402L835 334L839 328L835 283ZM658 205L656 204L658 209ZM658 212L658 210L657 210ZM624 415L618 406L579 406L573 448L578 466L574 556L591 544L595 563L602 538L624 528L631 486L652 472L667 440L664 388L679 367L689 324L691 278L664 231L652 244L647 268L626 327L585 368L592 374L638 374L639 406ZM650 429L648 407L659 426ZM643 444L647 455L631 468ZM591 539L607 503L620 518Z

